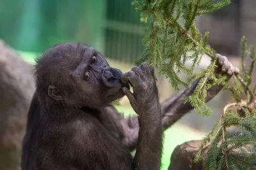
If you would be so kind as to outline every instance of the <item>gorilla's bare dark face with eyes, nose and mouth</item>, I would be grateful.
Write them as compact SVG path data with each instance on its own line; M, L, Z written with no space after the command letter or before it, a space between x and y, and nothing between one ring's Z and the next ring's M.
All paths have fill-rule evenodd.
M122 72L109 66L106 59L95 49L87 48L86 54L84 55L86 62L81 64L84 67L82 69L84 70L82 86L86 88L84 94L93 95L95 100L101 100L103 103L124 97L122 87L129 88L129 84L120 81Z

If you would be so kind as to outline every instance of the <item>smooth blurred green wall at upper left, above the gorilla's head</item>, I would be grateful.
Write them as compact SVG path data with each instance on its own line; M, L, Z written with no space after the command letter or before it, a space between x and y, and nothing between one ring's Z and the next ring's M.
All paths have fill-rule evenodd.
M0 0L0 38L22 51L58 42L104 50L106 0Z

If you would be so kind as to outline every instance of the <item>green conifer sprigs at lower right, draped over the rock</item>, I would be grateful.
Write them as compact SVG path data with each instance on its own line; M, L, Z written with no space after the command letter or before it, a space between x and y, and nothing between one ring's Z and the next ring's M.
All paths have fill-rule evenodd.
M256 94L251 89L252 70L255 63L255 50L251 46L247 49L246 39L241 41L241 72L232 77L233 86L227 82L222 85L230 91L236 103L228 104L223 109L220 121L212 127L211 132L203 139L195 161L201 158L204 146L211 142L205 160L205 169L256 169ZM246 68L244 61L251 59L250 66ZM255 86L255 85L254 85ZM229 107L235 109L227 111ZM243 116L241 116L243 115ZM227 128L236 126L241 131L227 132ZM214 134L217 127L220 127Z

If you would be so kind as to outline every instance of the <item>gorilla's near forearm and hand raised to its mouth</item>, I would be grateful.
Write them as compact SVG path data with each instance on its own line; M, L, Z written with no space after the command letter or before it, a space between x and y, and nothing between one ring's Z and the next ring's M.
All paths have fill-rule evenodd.
M160 169L163 128L154 68L146 63L134 66L130 72L121 76L121 81L128 81L133 87L134 93L131 93L127 88L122 88L122 90L129 98L132 108L138 114L140 130L137 146L147 148L141 152L136 152L134 160L132 160L132 166L134 169L148 169L147 167ZM143 157L147 157L147 160L142 159Z

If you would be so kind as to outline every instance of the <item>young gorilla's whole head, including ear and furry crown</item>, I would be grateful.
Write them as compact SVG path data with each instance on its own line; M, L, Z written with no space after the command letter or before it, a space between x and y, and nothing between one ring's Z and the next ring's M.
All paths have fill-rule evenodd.
M86 45L58 44L37 63L37 81L43 81L39 78L43 77L48 97L68 105L102 107L124 97L124 86L129 88L128 83L120 81L122 72Z

